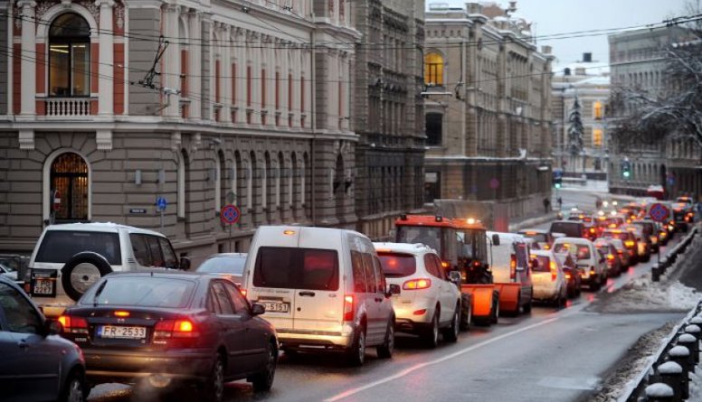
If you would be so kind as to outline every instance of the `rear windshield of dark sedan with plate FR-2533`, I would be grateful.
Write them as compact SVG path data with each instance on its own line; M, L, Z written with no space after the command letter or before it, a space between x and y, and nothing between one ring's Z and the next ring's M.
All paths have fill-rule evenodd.
M195 282L159 276L113 276L83 294L81 304L185 308Z

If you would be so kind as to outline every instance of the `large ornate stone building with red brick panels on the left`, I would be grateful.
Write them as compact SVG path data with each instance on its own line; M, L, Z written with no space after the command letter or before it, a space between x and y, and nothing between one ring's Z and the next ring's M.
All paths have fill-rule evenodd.
M350 3L0 1L0 250L114 221L197 264L262 224L355 227Z

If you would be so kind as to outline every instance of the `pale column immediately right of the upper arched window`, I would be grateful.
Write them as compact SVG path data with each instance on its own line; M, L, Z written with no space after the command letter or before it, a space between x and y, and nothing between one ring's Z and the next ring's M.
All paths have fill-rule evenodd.
M112 7L114 0L97 0L100 7L100 64L98 65L98 114L111 116L114 112L114 35L112 33Z

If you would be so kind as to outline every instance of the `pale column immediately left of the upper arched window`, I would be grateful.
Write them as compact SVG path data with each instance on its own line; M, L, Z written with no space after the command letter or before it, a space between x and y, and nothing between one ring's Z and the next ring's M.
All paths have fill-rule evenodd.
M36 113L36 28L34 7L36 2L20 0L17 6L22 10L22 98L20 115L33 116Z

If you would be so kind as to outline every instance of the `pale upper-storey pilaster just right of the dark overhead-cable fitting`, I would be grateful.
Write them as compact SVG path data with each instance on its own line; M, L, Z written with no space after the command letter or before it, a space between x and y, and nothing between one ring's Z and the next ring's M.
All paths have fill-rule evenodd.
M163 111L164 117L179 117L180 116L180 95L166 92L166 89L174 89L180 91L180 45L177 38L181 35L178 33L178 17L180 14L180 6L165 5L163 13L163 33L168 40L168 47L164 53L164 74L163 74L163 89L165 93L166 108Z

